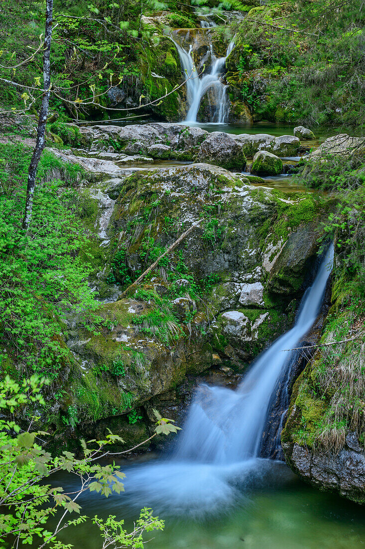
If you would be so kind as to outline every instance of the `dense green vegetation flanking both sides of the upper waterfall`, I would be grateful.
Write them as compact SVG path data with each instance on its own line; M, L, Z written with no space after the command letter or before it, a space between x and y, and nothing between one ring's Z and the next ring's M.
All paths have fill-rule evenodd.
M227 23L226 9L243 9L248 14L243 21ZM358 129L364 118L364 12L357 0L271 0L262 6L255 0L244 4L132 0L123 5L104 0L94 4L56 0L54 10L56 93L51 104L64 116L76 117L78 106L81 118L113 119L128 111L106 107L115 109L118 104L133 112L140 104L171 92L183 80L178 55L163 29L199 26L197 14L209 13L218 24L217 40L222 33L227 38L236 35L237 46L227 60L229 94L246 103L255 120ZM159 10L164 10L163 15ZM28 55L28 46L37 48L43 17L42 3L27 2L20 8L15 0L6 0L0 10L3 65L14 65L9 63L11 56L19 64ZM0 68L3 79L27 86L34 86L40 75L39 52L14 74ZM118 85L115 101L104 95L110 84ZM24 89L4 81L0 89L5 105L23 104ZM83 107L81 102L90 92L95 93L96 104ZM183 97L179 88L161 104L137 114L178 120L179 98Z

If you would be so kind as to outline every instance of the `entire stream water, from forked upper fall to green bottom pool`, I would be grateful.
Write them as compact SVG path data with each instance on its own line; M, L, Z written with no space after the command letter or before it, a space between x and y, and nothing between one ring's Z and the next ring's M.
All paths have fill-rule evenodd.
M202 27L204 32L209 25ZM198 74L189 32L176 30L170 38L178 49L183 74L189 75L191 70ZM226 123L229 99L223 75L226 57L233 47L231 42L225 57L216 57L209 45L207 72L187 79L187 114L181 124L198 125L209 132L293 135L294 126ZM206 94L209 122L197 122ZM318 147L320 139L328 137L325 127L315 128L315 132L316 139L305 145ZM299 158L283 160L295 164ZM126 170L186 164L191 163L136 162ZM284 174L265 178L264 186L285 192L311 192ZM83 496L80 503L84 514L115 514L130 528L142 507L153 508L166 520L166 528L146 534L146 539L153 540L148 544L151 549L347 549L365 545L365 516L360 507L309 488L281 461L259 457L271 396L287 379L291 354L286 350L298 347L315 322L332 263L331 245L303 296L294 327L254 361L238 388L199 386L173 447L163 456L120 461L127 475L123 480L126 491L107 500L96 494ZM59 475L55 481L72 487L68 475ZM100 547L97 531L90 524L72 529L72 539L68 536L66 531L63 540L72 542L76 549Z

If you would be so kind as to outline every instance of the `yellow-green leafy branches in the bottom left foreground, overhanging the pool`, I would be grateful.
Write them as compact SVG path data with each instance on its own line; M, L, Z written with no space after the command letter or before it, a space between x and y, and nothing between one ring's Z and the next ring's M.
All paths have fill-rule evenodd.
M108 497L124 490L122 479L125 475L120 467L115 463L102 466L95 461L108 455L108 445L122 444L120 436L109 433L105 440L88 443L81 440L81 458L67 451L52 458L38 442L48 433L32 432L30 426L24 431L14 419L6 419L9 413L14 414L30 404L44 406L41 389L45 383L44 378L36 376L24 380L21 385L8 376L0 382L0 544L12 549L33 543L41 549L50 544L57 549L70 549L70 545L60 541L59 531L89 520L98 526L101 543L107 542L108 547L144 547L144 531L164 527L162 520L153 517L152 509L142 509L133 531L128 532L123 527L124 520L116 520L115 516L100 519L96 515L92 518L82 515L82 508L76 501L85 491ZM178 429L169 427L170 420L159 416L156 434L161 430L176 432ZM76 475L80 488L67 492L49 484L50 475L59 472Z

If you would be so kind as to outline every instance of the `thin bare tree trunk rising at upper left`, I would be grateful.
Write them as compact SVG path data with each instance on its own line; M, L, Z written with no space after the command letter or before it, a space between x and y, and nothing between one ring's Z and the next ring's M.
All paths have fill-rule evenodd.
M44 149L45 125L47 124L48 106L50 97L50 47L52 39L52 17L53 17L53 0L46 0L45 7L45 32L44 32L44 53L43 53L43 88L48 90L44 92L42 98L41 109L39 110L37 141L33 150L32 159L28 170L27 195L25 200L25 212L23 220L23 228L28 230L29 223L32 217L33 195L36 187L36 174L39 159Z

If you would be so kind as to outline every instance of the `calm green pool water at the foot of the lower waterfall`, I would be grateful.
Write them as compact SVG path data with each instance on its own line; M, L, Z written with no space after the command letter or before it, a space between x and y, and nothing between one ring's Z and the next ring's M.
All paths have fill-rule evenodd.
M220 492L216 492L218 505L213 514L204 503L201 509L189 512L189 497L183 506L176 507L176 498L166 497L161 477L153 474L156 470L153 462L152 467L148 463L123 467L126 480L131 477L126 492L108 499L96 495L84 497L82 512L89 516L115 514L125 518L131 527L133 519L138 518L140 498L145 498L145 505L153 503L156 514L166 521L163 531L145 536L150 539L146 545L149 549L353 549L365 546L362 507L301 483L283 463L259 461L265 462L263 473L256 473L252 482L241 485L234 502L220 502ZM163 474L164 463L159 464ZM145 493L142 494L142 490L136 495L134 474L144 467L150 467L147 471L151 477ZM189 478L186 481L189 485ZM212 483L215 493L214 476ZM173 490L173 486L170 489ZM194 506L194 497L191 505ZM76 549L100 547L98 533L90 525L66 530L63 539Z

